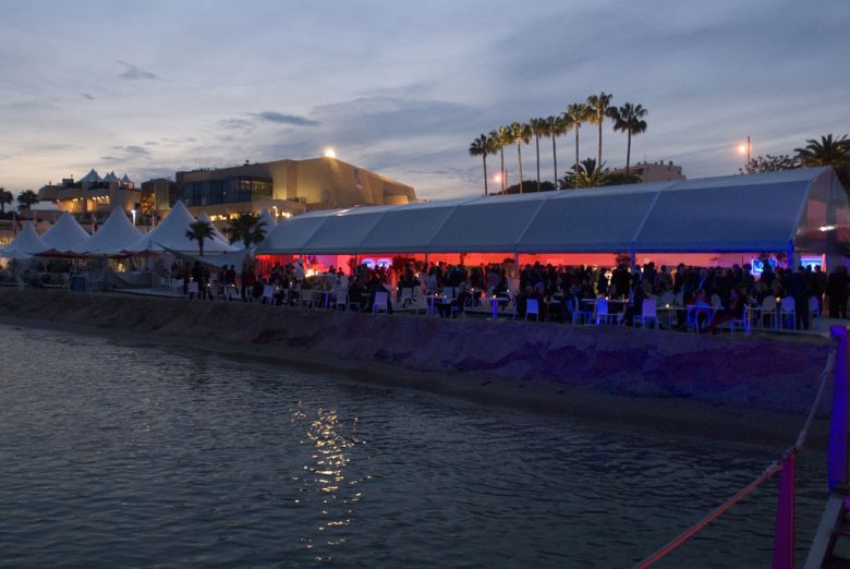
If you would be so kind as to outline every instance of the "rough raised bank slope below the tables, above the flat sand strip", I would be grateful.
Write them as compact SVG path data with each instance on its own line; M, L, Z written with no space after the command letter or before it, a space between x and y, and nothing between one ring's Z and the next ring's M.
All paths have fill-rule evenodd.
M2 290L0 316L150 332L224 354L361 375L415 372L417 384L406 383L440 384L435 391L495 384L545 386L554 396L576 387L787 413L809 409L828 353L826 340L811 337L706 337L54 290Z

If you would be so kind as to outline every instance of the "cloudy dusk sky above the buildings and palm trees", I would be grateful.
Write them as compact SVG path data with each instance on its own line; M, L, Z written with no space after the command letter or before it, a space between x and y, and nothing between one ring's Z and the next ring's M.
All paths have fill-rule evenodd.
M139 183L330 146L422 198L481 194L475 137L602 90L648 110L632 162L689 178L737 173L748 135L755 156L850 133L847 0L0 0L0 13L13 192L90 168ZM557 145L560 177L573 133ZM581 157L596 146L582 128ZM534 143L522 153L532 179ZM515 183L515 147L505 158ZM610 122L603 159L626 162ZM541 168L551 180L548 140Z

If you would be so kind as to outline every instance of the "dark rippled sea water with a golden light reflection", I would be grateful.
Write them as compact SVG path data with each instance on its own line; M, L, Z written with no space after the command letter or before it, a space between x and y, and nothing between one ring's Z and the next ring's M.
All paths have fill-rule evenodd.
M0 326L3 566L626 567L775 453ZM775 496L659 567L768 566Z

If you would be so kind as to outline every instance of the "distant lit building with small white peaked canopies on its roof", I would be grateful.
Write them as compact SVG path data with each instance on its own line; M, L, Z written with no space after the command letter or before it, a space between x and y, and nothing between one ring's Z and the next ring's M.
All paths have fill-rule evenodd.
M110 211L120 206L124 210L138 209L142 192L124 174L119 178L114 172L100 177L93 168L78 181L65 178L60 184L49 182L38 190L40 202L52 202L57 209L70 211L80 222L106 221ZM33 211L22 211L22 217L33 218Z

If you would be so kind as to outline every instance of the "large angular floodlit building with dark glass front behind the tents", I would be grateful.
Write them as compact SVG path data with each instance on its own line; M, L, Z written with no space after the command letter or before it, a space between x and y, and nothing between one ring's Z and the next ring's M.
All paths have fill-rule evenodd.
M279 217L416 202L413 187L328 157L177 172L177 198L214 220L264 208Z

